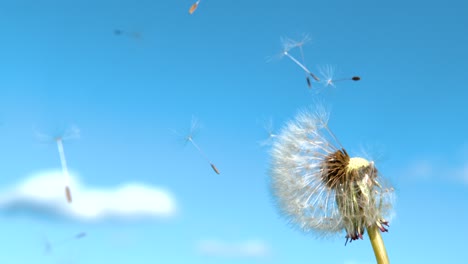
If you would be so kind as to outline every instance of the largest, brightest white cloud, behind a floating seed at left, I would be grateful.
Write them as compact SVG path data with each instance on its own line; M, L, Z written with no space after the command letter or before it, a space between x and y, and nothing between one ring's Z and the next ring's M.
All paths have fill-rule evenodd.
M139 183L116 188L90 188L81 185L73 174L66 181L61 171L32 175L0 193L0 209L31 211L77 220L122 218L165 218L175 214L176 204L170 192ZM65 198L69 182L72 203Z

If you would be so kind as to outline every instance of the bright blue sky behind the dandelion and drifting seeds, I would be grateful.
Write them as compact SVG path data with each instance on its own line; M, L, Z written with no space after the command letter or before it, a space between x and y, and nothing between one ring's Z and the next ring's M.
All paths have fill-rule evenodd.
M55 143L35 135L75 126L80 136L64 148L83 188L77 203L79 193L128 184L171 202L150 217L128 218L129 207L92 221L57 214L69 210L57 202L3 207L0 263L374 263L367 237L346 247L344 233L316 239L288 226L272 202L269 148L259 144L265 122L278 131L317 101L330 107L330 127L348 152L370 153L395 186L395 217L383 234L390 260L460 261L468 236L465 1L203 0L189 15L192 4L0 2L1 199L60 173ZM290 60L268 61L281 37L304 34L312 71L333 65L361 81L316 93ZM220 175L172 131L185 133L192 116L200 122L194 140ZM73 239L80 232L87 236Z

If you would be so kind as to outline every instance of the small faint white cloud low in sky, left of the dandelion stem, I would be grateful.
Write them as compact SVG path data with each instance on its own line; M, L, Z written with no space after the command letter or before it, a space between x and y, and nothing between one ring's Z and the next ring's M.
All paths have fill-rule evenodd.
M198 242L197 249L204 255L227 258L264 258L270 255L268 246L260 240L248 240L240 243L202 240Z

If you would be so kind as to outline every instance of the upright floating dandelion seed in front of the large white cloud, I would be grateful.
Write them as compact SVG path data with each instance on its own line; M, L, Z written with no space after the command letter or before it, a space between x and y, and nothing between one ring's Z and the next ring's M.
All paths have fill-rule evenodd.
M38 137L39 140L46 141L46 142L53 140L57 143L57 149L58 149L59 157L60 157L60 164L62 165L62 173L63 173L63 176L65 177L65 198L67 199L68 203L72 202L72 194L70 190L71 177L68 171L67 160L65 158L63 141L68 140L68 139L78 138L79 134L80 134L80 131L77 127L71 127L70 129L65 131L63 135L55 136L55 137L50 137L50 136L36 132L36 136Z

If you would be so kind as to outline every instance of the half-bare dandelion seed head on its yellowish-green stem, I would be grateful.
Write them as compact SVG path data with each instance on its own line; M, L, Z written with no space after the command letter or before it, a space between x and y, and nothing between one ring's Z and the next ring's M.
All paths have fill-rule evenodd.
M328 112L304 111L278 135L272 150L272 189L281 212L305 232L346 241L367 229L378 263L388 263L379 230L387 232L393 188L374 162L350 157L328 128ZM386 262L387 260L387 262Z

